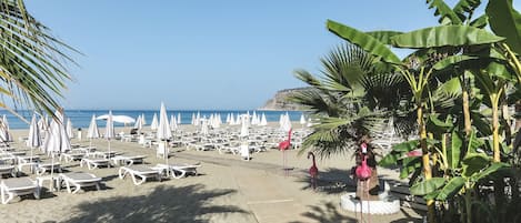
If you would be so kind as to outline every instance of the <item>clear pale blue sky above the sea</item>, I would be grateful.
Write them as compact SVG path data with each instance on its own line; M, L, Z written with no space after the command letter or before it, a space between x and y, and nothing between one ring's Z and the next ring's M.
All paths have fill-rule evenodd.
M453 6L454 0L447 1ZM68 65L66 109L256 109L320 73L344 42L332 19L362 31L435 26L424 0L27 0L81 54ZM518 7L517 7L518 8Z

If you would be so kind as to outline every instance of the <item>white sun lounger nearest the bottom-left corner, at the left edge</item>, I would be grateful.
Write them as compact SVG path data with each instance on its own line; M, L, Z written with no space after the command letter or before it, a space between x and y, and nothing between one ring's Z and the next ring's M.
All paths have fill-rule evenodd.
M2 204L9 203L16 195L33 194L40 199L38 183L29 178L7 179L0 183Z

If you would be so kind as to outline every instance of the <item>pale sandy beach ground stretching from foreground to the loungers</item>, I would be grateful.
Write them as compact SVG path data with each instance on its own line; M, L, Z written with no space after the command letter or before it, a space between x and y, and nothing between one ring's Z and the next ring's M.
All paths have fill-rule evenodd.
M129 132L129 128L117 132ZM27 130L11 131L17 150L28 150L19 142ZM100 129L102 132L102 129ZM83 132L84 134L84 132ZM83 139L72 143L88 145ZM107 150L103 139L92 141L98 150ZM146 164L164 163L156 158L154 146L143 148L136 142L111 141L111 150L126 155L147 155ZM39 152L37 152L39 153ZM24 196L2 205L1 222L358 222L357 213L339 205L340 195L353 191L348 170L353 166L350 154L319 160L319 189L310 187L307 170L311 161L298 151L288 151L289 172L282 170L282 154L278 150L253 153L251 161L217 151L171 149L169 163L201 163L199 175L163 179L134 185L130 178L118 178L119 166L88 170L79 162L61 162L67 172L89 172L103 179L103 189L89 189L78 194L67 190L49 191L42 197ZM41 158L48 159L44 154ZM141 165L141 164L140 164ZM23 173L34 179L29 171ZM379 169L384 179L398 180L393 170ZM22 176L23 178L23 176ZM421 222L415 210L402 207L393 215L373 215L371 222Z

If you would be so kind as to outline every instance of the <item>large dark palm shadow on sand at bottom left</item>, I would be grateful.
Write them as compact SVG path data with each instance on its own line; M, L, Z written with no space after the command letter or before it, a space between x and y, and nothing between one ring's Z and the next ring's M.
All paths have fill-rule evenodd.
M118 196L79 204L67 223L79 222L209 222L207 214L247 213L232 205L211 205L209 201L236 193L233 190L206 191L201 184L158 186L148 195Z

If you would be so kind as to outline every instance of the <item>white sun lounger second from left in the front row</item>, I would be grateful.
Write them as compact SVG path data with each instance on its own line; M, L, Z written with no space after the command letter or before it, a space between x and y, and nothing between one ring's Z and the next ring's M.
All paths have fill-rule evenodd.
M77 193L81 187L86 186L96 186L98 191L101 190L101 178L97 178L91 173L60 173L59 178L62 183L66 184L69 193ZM71 190L72 186L74 187L74 191Z

